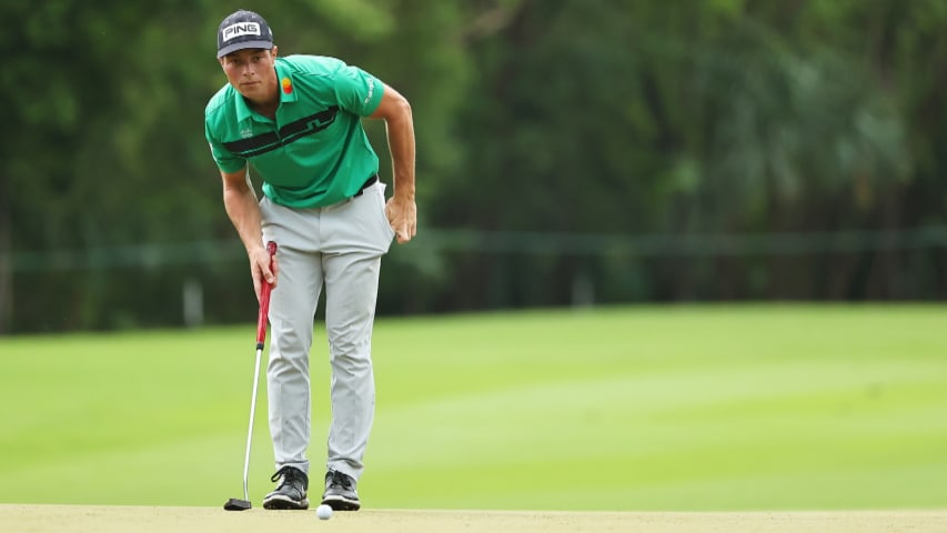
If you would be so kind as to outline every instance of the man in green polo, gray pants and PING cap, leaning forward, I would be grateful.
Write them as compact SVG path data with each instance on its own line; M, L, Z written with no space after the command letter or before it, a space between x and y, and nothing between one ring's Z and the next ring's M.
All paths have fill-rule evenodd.
M332 422L322 503L355 511L374 415L371 350L381 258L393 238L407 242L416 228L411 107L339 59L278 57L270 26L252 11L226 17L216 42L228 84L208 103L205 135L258 298L263 280L274 284L266 386L276 486L263 506L309 507L309 352L324 286ZM387 201L363 118L386 125L394 177ZM248 163L262 180L262 200ZM264 248L271 240L279 244L272 270Z

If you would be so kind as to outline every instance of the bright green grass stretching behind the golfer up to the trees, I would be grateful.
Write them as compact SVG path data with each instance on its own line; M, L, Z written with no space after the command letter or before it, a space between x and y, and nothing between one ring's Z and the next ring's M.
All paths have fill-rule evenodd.
M313 350L314 490L328 363ZM255 328L0 338L0 502L242 497ZM372 507L947 502L947 305L382 319ZM251 497L273 456L258 405Z

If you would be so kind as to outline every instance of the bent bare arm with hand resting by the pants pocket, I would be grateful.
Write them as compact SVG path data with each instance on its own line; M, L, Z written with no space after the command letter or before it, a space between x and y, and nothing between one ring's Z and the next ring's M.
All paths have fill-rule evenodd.
M385 121L394 174L394 193L385 205L385 213L397 242L405 243L417 233L417 207L414 203L414 121L411 117L411 104L385 84L382 101L370 118Z

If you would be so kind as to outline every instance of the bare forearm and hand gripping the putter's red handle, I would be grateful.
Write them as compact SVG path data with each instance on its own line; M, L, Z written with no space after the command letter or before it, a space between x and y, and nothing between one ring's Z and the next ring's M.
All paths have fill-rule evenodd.
M256 192L250 183L245 168L238 172L221 171L220 175L223 179L223 207L246 249L253 290L259 299L262 280L265 279L275 286L279 268L273 258L273 269L270 270L270 254L263 247L262 217Z

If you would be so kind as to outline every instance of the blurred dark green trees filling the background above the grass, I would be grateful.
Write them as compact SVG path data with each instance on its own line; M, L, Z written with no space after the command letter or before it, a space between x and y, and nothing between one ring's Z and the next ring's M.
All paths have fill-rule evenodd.
M0 6L18 51L0 72L0 331L178 325L185 280L206 322L246 318L201 127L236 7ZM281 53L341 57L413 104L421 233L387 259L382 314L564 305L576 286L605 303L947 295L941 0L240 7ZM536 251L536 234L575 245ZM806 245L689 244L717 234Z

